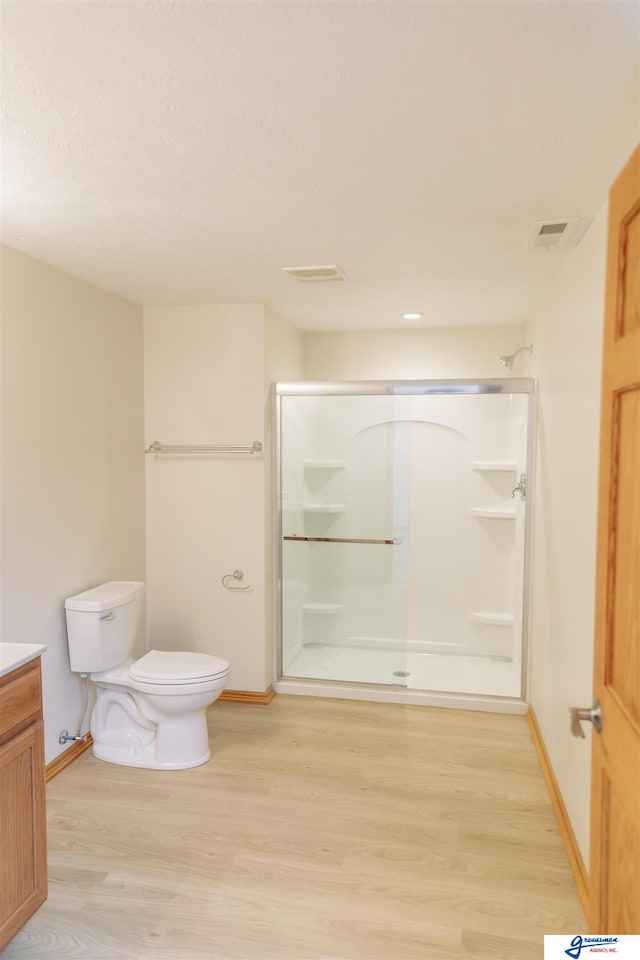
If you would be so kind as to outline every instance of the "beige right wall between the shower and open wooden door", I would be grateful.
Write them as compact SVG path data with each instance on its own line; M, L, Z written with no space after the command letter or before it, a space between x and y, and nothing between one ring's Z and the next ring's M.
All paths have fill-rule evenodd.
M590 737L568 707L592 698L606 209L560 271L528 334L538 429L531 703L589 865Z

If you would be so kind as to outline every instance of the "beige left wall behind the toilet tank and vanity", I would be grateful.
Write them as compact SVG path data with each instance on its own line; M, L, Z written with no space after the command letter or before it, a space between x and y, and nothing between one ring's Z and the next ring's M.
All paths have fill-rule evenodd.
M2 639L47 646L47 761L80 713L65 597L144 579L142 396L140 308L3 247Z

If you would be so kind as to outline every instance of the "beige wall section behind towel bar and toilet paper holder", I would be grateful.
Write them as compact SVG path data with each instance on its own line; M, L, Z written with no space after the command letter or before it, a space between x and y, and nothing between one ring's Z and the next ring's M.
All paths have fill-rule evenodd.
M264 441L261 304L144 311L147 443ZM264 690L262 455L147 456L149 646L228 660L228 686ZM240 569L246 592L222 577Z

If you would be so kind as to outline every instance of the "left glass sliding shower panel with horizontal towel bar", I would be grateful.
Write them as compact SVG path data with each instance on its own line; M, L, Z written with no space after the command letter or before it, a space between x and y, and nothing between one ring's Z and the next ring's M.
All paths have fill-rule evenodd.
M283 677L406 686L408 402L281 398Z

